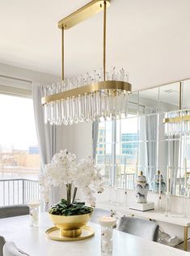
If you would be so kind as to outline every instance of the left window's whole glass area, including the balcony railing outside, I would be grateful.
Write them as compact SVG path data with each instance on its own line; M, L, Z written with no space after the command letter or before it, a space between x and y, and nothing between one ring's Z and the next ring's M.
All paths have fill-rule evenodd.
M0 94L0 118L0 206L26 203L29 195L39 196L32 99Z

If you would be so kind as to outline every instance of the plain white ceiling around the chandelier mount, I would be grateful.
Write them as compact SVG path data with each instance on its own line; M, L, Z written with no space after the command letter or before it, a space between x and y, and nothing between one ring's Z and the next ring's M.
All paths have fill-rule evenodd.
M87 0L0 0L0 62L61 74L57 22ZM102 13L65 32L65 75L102 66ZM133 88L190 78L189 0L111 0L108 66Z

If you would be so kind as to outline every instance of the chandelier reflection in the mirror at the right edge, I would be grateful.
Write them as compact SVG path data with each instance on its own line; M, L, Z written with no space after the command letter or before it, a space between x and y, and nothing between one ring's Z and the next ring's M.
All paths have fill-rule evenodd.
M179 83L179 110L168 112L163 119L166 136L180 136L190 132L190 110L181 108L182 82Z

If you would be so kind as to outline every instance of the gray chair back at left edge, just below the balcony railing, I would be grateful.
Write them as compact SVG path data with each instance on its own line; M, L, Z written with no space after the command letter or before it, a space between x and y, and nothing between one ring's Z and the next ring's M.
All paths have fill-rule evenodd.
M29 207L27 205L0 207L0 219L27 214L29 214Z

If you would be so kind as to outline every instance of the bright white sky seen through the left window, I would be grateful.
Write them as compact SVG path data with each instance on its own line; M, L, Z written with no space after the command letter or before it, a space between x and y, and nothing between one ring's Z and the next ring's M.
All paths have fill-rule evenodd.
M9 151L36 145L32 99L0 94L0 146Z

